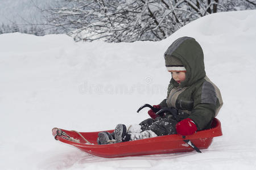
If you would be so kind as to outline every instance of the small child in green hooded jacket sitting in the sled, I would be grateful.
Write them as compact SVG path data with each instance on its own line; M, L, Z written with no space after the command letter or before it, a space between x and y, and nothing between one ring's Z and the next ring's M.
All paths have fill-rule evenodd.
M134 141L169 134L191 135L197 130L210 128L223 104L220 90L209 80L204 70L204 54L199 43L192 37L180 37L164 53L167 70L172 78L168 86L167 98L159 105L158 111L172 108L177 113L175 119L170 113L162 116L148 111L151 118L137 126L118 124L112 134L104 131L98 134L100 145Z

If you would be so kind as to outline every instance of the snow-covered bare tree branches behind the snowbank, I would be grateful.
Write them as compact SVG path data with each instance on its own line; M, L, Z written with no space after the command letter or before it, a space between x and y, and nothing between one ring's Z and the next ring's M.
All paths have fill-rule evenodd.
M221 11L255 8L253 0L58 0L44 10L48 25L76 41L159 41L192 20Z

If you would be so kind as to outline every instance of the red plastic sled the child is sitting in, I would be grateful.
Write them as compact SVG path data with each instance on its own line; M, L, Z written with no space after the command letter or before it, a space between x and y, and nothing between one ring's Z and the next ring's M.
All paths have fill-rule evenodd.
M92 144L88 144L79 133L75 131L63 130L72 139L79 141L70 141L63 136L56 135L56 128L53 128L52 135L55 139L68 143L79 148L88 154L105 157L115 158L122 156L138 156L138 155L150 155L150 154L167 154L174 152L189 152L193 151L187 143L183 141L181 135L172 134L161 137L141 139L138 141L129 141L121 143L113 143L108 145L97 145L97 137L99 131L96 132L80 132L80 134ZM110 133L113 130L107 130ZM217 118L214 118L212 128L208 130L197 131L193 135L188 135L185 139L191 140L191 142L199 149L206 149L212 143L213 137L222 135L221 123Z

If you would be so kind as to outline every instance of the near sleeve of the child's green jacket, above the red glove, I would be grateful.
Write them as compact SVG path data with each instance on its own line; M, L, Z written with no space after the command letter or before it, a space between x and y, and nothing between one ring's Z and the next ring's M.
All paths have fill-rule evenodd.
M213 85L204 82L203 86L195 91L193 98L193 109L188 118L196 123L198 130L203 130L212 122L216 111L217 96Z

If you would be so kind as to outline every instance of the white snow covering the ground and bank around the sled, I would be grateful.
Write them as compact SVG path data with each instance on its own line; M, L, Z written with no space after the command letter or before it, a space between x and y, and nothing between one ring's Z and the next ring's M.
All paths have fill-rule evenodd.
M1 169L254 169L256 10L207 15L160 42L74 42L66 35L0 35ZM224 105L223 136L197 152L98 158L65 145L54 127L98 131L148 118L166 97L163 54L181 36L200 42Z

